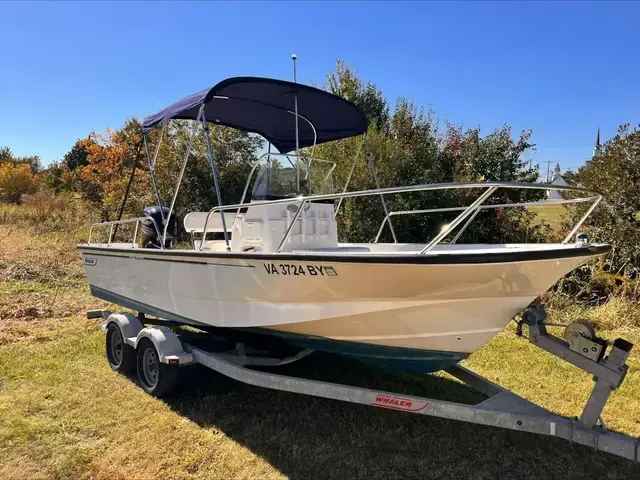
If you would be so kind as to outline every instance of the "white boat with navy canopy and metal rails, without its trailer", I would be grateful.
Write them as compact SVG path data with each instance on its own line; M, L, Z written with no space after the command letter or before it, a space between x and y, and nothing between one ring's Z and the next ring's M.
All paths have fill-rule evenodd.
M167 207L159 197L149 132L172 120L193 121L206 139L217 206L183 219L189 248L171 241L182 173ZM269 149L256 161L238 204L222 202L209 124L261 135ZM578 187L514 182L459 182L348 191L366 150L367 119L353 103L284 80L234 77L160 110L143 122L146 159L157 205L140 217L91 226L78 245L92 295L180 325L250 345L324 351L385 368L428 373L481 348L539 295L585 262L609 251L580 233L601 196ZM346 185L331 187L335 164L314 148L359 137ZM365 147L363 148L363 145ZM182 172L188 154L182 164ZM255 177L249 195L249 187ZM392 211L386 198L464 189L469 205ZM503 189L569 191L578 198L495 204ZM385 213L375 240L340 241L336 218L344 199L379 199ZM491 208L585 202L584 216L561 243L458 244L479 212ZM428 207L428 206L426 206ZM458 216L433 238L403 243L398 215L442 211ZM114 228L134 223L131 242ZM393 242L381 242L388 228ZM102 242L95 231L107 229ZM140 235L138 233L141 232ZM447 240L448 239L448 240Z

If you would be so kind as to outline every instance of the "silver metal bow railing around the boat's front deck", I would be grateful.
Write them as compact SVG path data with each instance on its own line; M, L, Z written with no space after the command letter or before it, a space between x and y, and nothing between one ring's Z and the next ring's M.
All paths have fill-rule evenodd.
M496 190L498 190L500 188L524 189L524 190L573 191L573 192L581 192L581 193L591 194L592 196L590 196L590 197L585 197L585 198L581 198L581 199L577 199L577 200L562 200L562 201L552 201L551 202L551 203L579 203L579 202L582 202L582 201L584 201L584 202L593 201L592 205L589 207L589 209L586 211L586 213L582 216L582 218L578 221L578 223L573 227L571 232L564 239L563 243L568 243L569 242L569 240L575 235L575 233L578 231L578 229L584 223L584 221L589 217L589 215L591 215L591 212L593 212L593 210L596 208L598 203L600 203L600 200L602 200L602 196L600 194L595 194L595 192L593 192L591 190L588 190L588 189L585 189L585 188L580 188L580 187L569 187L569 186L565 187L565 186L551 185L551 184L545 184L545 183L458 182L458 183L434 183L434 184L427 184L427 185L411 185L411 186L406 186L406 187L377 188L377 189L373 189L373 190L361 190L361 191L358 191L358 192L343 192L343 193L334 193L334 194L328 194L328 195L311 195L311 196L307 196L307 197L299 196L299 197L291 198L291 199L280 199L280 200L269 200L269 201L252 202L250 204L250 206L257 207L257 206L262 206L262 205L274 205L274 204L280 204L280 203L282 203L282 204L299 203L298 209L297 209L295 215L293 216L293 218L291 220L291 223L289 224L289 226L288 226L288 228L287 228L287 230L286 230L286 232L285 232L285 234L284 234L284 236L282 238L282 241L280 242L280 245L278 246L277 252L281 252L282 248L285 245L285 243L289 239L291 231L293 230L293 226L297 222L297 220L298 220L298 218L300 216L300 213L304 210L305 205L307 203L309 203L309 202L320 201L320 200L335 200L335 199L342 199L342 198L382 196L382 195L407 193L407 192L421 192L421 191L430 191L430 190L456 190L456 189L470 189L470 188L482 189L483 192L480 194L480 196L471 205L469 205L467 207L453 207L453 208L445 208L445 209L428 209L428 210L412 210L412 211L408 211L406 213L404 213L404 212L403 213L400 213L400 212L396 213L396 215L410 214L410 213L432 213L434 210L435 211L461 211L462 212L451 223L448 224L447 228L443 229L442 232L440 232L438 235L436 235L426 245L426 247L424 249L422 249L422 251L420 252L421 254L424 255L425 253L429 252L431 249L433 249L433 247L435 247L438 243L440 243L447 235L449 235L458 225L460 225L462 222L467 220L467 223L462 227L462 229L464 231L464 229L467 228L469 223L471 221L473 221L475 216L478 214L478 212L480 211L481 207L483 206L483 203ZM524 203L524 205L536 205L536 204L540 205L540 204L550 204L550 203L549 203L549 201L547 201L547 202L527 202L527 203ZM506 204L506 205L507 206L518 206L519 204ZM209 210L209 213L207 214L207 218L206 218L205 224L204 224L205 235L206 235L206 231L207 231L207 227L208 227L209 219L211 218L211 215L213 215L216 212L222 213L225 210L238 210L240 208L247 207L247 206L249 206L249 205L240 203L240 204L236 204L236 205L218 206L218 207L214 207L211 210ZM498 208L499 205L486 205L485 207ZM384 227L384 224L389 221L389 216L391 216L392 213L394 213L394 212L390 212L387 215L387 217L385 217L382 227ZM380 233L380 232L378 232L378 233ZM379 235L378 235L378 237L379 237ZM457 240L457 237L459 237L459 234L456 236L456 240ZM204 244L204 238L203 238L203 244ZM200 246L200 250L202 250L202 245Z

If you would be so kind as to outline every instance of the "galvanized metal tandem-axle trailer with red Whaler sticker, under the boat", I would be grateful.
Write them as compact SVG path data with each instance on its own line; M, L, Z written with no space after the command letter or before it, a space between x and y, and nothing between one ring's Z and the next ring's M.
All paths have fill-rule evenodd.
M182 341L170 328L171 322L148 319L142 314L112 314L106 310L89 311L87 317L104 320L102 328L107 333L107 358L111 367L122 373L137 371L140 386L157 397L169 394L174 388L179 367L198 363L257 387L549 435L640 461L640 439L607 430L601 419L609 396L625 378L626 361L633 344L617 339L606 355L608 343L581 322L565 326L564 339L561 339L547 332L547 326L560 325L546 322L546 313L540 308L523 313L516 333L593 375L595 385L580 418L555 414L459 365L445 371L486 395L486 400L469 405L258 371L250 367L292 363L312 350L303 350L285 359L251 355L242 344L237 344L233 352L209 352ZM528 336L523 335L525 326Z

